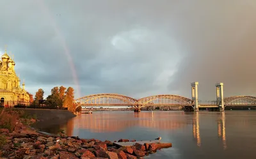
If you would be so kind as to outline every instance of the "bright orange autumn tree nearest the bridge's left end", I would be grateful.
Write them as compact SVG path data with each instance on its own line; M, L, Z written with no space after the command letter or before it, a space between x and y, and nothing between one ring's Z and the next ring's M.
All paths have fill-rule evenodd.
M74 88L68 87L63 101L63 107L68 108L70 112L76 111L76 105L74 104Z

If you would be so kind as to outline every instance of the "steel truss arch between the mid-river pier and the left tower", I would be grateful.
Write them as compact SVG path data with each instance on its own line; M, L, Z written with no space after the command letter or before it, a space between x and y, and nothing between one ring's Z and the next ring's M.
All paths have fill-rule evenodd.
M147 96L138 100L140 107L145 106L192 106L193 100L178 95Z

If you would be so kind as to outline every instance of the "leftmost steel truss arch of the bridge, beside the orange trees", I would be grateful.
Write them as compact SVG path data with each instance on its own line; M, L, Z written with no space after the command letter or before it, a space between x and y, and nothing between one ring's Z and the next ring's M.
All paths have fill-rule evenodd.
M132 106L138 105L136 99L114 93L102 93L84 96L75 100L79 106Z

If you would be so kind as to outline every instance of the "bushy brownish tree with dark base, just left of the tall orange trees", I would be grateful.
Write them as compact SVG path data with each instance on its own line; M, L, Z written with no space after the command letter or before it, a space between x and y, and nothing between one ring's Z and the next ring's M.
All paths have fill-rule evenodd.
M53 87L51 89L51 95L47 96L46 103L49 107L60 107L60 95L59 87Z

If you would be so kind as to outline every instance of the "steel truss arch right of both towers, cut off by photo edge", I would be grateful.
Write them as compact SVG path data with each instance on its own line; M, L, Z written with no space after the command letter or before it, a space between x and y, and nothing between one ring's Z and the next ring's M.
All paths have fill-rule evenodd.
M256 106L255 96L230 96L224 98L225 107L232 105L253 105Z

